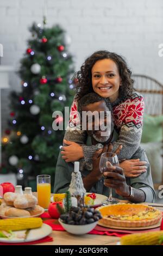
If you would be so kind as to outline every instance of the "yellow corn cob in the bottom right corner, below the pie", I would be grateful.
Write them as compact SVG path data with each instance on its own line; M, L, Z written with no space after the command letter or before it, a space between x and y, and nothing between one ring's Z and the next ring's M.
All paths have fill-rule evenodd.
M159 245L163 243L163 231L137 233L121 237L121 245Z

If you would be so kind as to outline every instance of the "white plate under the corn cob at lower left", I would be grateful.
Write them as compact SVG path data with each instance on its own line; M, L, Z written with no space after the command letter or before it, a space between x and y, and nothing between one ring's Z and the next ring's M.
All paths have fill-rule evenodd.
M13 233L16 235L21 233L22 231L23 230L14 231ZM27 238L25 240L23 238L17 238L17 237L12 237L11 239L0 237L0 242L7 242L7 243L31 242L31 241L42 239L43 237L51 234L51 232L52 232L52 228L49 225L43 223L40 228L30 229L27 235Z

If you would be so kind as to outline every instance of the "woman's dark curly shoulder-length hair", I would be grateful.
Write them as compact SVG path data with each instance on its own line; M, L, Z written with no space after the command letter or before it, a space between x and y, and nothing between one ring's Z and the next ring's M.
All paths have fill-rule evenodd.
M117 53L109 51L97 51L88 57L81 66L80 70L74 74L74 78L77 78L78 80L76 88L76 100L80 100L87 93L94 92L92 87L91 70L97 60L101 59L111 59L116 63L122 80L122 85L119 89L120 96L126 97L133 93L134 80L131 79L131 71L128 68L126 61Z

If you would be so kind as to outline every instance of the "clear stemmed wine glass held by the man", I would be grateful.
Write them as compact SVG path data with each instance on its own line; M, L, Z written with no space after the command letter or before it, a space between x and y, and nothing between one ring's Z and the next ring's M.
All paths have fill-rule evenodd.
M107 172L108 167L106 167L106 162L110 162L112 166L119 166L118 157L115 153L106 152L103 153L99 162L99 169L101 173ZM110 179L110 178L109 178ZM117 204L119 200L112 197L111 187L109 187L109 197L103 202L104 205Z

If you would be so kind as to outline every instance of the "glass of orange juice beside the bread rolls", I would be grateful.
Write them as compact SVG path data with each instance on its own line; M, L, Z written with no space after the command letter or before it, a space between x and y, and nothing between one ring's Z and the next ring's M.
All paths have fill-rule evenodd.
M38 204L44 209L48 209L51 203L51 176L38 175L37 176L37 199Z

